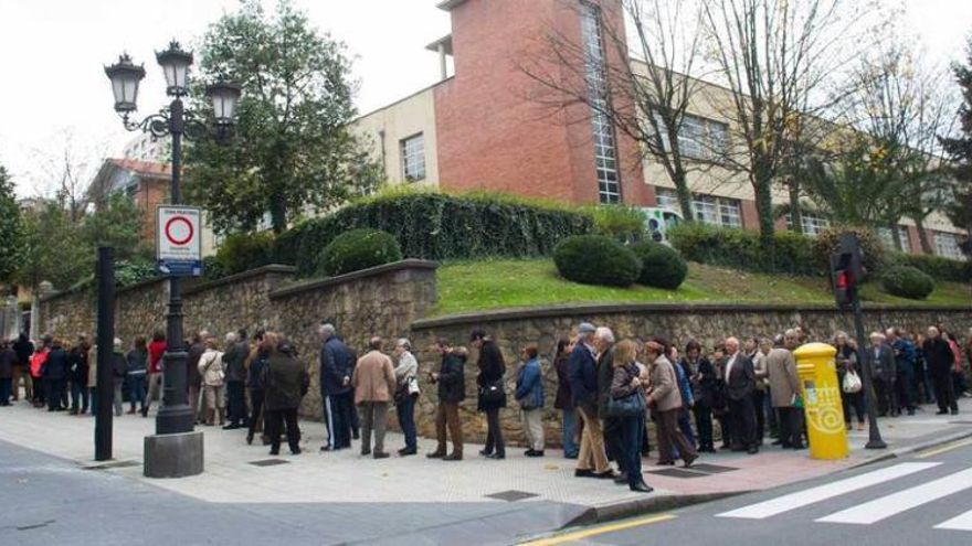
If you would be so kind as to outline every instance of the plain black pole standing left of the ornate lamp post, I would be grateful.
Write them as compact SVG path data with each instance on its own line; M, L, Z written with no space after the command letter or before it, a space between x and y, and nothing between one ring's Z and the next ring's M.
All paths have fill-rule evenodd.
M98 247L95 276L98 286L98 411L95 415L95 460L107 461L112 459L112 398L115 395L115 378L112 373L112 353L115 349L115 250L112 247Z

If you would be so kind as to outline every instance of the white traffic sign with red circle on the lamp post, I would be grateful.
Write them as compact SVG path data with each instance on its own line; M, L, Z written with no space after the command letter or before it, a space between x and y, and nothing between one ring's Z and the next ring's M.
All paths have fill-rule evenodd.
M179 277L202 275L201 215L202 211L194 206L158 207L156 258L161 272Z

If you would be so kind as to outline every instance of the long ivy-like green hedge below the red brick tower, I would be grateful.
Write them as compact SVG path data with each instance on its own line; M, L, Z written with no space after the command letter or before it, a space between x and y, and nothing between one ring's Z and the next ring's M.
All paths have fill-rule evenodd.
M317 255L339 234L368 227L392 234L408 258L549 256L564 237L587 234L575 208L499 194L391 193L305 221L277 237L274 259L311 275Z

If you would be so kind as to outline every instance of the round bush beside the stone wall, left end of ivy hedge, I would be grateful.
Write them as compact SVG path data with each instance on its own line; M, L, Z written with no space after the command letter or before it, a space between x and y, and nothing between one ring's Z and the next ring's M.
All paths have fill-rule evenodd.
M324 247L317 260L317 272L335 276L368 269L402 259L398 240L380 229L351 229Z

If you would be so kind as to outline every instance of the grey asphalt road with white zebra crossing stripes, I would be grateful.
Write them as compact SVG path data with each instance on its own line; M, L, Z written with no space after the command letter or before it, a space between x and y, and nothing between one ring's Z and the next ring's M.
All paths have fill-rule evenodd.
M772 491L588 528L559 544L972 545L972 440Z

